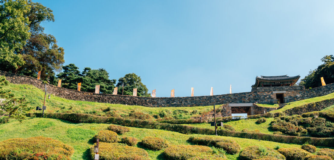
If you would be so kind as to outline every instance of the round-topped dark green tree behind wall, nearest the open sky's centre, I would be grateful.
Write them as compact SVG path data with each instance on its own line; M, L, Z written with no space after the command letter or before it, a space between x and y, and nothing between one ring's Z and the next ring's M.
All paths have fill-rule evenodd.
M142 97L149 97L146 85L142 83L140 76L135 73L126 74L124 77L118 79L117 87L118 94L122 95L122 85L124 83L124 95L133 95L133 89L137 88L137 95Z

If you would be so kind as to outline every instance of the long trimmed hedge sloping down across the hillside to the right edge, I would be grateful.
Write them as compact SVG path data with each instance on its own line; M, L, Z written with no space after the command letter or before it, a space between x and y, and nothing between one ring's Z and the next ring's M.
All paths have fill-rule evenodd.
M41 113L28 113L28 117L41 117ZM67 120L74 123L111 123L129 127L149 128L149 129L163 129L168 131L179 132L183 134L204 134L214 135L214 129L198 128L186 125L176 125L167 123L158 123L148 120L133 120L113 117L102 117L82 113L45 113L45 118L55 118ZM257 139L265 141L273 141L279 143L295 143L295 144L312 144L316 146L334 147L334 138L314 138L314 137L296 137L284 136L264 133L250 133L238 132L229 130L217 130L220 136L240 137L247 139Z

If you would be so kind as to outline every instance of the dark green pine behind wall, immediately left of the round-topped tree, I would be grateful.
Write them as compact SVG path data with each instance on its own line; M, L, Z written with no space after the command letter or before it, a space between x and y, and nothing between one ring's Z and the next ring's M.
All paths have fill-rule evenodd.
M86 67L82 73L81 91L95 92L95 85L100 85L100 92L112 94L116 79L110 80L109 73L103 69L91 69Z

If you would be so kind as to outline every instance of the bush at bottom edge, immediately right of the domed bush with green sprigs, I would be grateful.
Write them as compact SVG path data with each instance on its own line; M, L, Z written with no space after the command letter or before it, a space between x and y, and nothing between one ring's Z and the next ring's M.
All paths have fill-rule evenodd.
M304 160L306 156L311 155L310 152L296 147L280 148L277 151L283 154L287 160Z

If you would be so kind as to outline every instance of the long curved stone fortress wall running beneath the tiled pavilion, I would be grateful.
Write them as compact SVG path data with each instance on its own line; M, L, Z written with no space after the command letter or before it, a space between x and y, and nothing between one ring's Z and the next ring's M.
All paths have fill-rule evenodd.
M0 75L14 84L29 84L44 90L42 80L36 78L12 74L0 71ZM186 106L208 106L226 103L277 103L276 94L283 93L285 103L323 96L334 92L334 83L313 89L305 89L304 86L282 86L282 87L258 87L252 92L222 94L213 96L195 97L135 97L112 94L96 94L81 92L47 84L47 91L58 97L78 101L102 102L111 104L140 105L147 107L186 107Z

